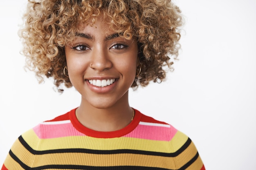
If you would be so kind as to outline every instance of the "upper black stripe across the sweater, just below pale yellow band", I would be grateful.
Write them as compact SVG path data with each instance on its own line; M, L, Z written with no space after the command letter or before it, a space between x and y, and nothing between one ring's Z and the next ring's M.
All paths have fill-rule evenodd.
M20 143L32 154L34 155L44 155L44 154L54 154L54 153L88 153L88 154L140 154L140 155L153 155L153 156L162 156L162 157L177 157L182 153L186 148L191 144L191 139L185 142L185 144L176 152L173 153L164 153L164 152L151 152L145 150L130 150L130 149L119 149L119 150L91 150L91 149L82 149L82 148L69 148L69 149L54 149L54 150L34 150L31 148L27 142L20 136Z

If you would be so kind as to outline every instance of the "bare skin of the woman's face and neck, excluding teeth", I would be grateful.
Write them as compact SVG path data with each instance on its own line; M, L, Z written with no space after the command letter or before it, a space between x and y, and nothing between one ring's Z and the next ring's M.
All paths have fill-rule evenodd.
M76 114L81 124L97 131L127 126L133 112L128 89L138 64L136 40L121 38L98 18L94 26L84 26L74 42L65 46L65 55L70 81L81 94ZM104 79L115 82L104 87L89 82Z

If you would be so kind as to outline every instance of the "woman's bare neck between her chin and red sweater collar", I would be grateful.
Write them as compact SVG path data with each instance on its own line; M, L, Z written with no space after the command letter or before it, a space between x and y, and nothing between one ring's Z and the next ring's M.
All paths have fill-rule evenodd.
M107 108L96 108L82 98L76 109L76 117L83 126L96 131L110 132L127 126L133 118L134 110L127 101L118 101Z

